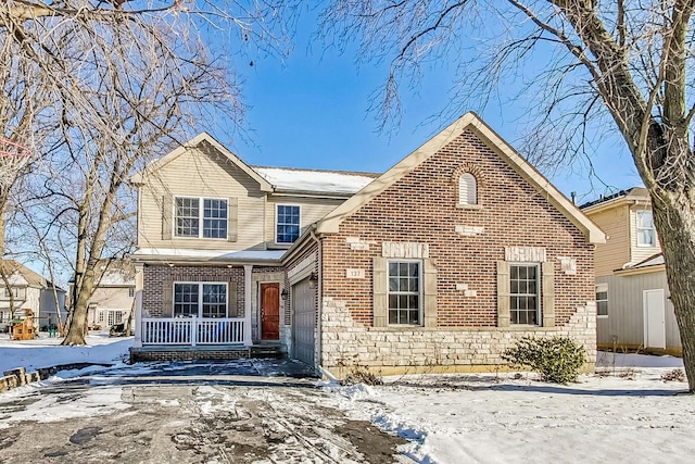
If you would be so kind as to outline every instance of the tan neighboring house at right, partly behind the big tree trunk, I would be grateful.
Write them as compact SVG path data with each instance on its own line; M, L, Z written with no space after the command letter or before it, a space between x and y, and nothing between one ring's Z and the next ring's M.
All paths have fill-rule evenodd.
M598 347L680 354L647 190L622 190L581 209L607 236L595 256Z

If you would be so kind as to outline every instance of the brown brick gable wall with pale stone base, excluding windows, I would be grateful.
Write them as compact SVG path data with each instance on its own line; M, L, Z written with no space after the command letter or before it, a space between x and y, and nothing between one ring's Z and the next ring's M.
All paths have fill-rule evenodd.
M478 181L473 206L457 204L465 172ZM421 255L408 251L404 258L427 259L437 269L431 327L375 327L374 260L387 258L392 246L414 246ZM509 258L507 249L540 252ZM471 131L345 218L338 234L323 238L321 253L320 364L326 368L354 361L394 372L498 368L504 350L525 335L570 336L585 346L589 364L595 362L593 244ZM552 324L501 327L497 266L504 261L548 267ZM546 296L543 290L541 299Z

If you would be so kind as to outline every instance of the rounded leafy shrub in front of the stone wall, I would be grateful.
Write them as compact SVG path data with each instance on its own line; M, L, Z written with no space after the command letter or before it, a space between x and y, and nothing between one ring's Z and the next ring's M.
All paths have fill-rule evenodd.
M523 337L502 359L516 367L529 367L542 380L567 384L577 381L586 355L584 347L568 337Z

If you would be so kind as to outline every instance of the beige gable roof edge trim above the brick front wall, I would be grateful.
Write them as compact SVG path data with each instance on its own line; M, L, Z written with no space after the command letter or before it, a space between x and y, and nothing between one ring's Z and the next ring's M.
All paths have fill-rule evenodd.
M420 148L405 156L401 162L377 177L372 183L364 187L340 206L328 213L317 224L318 234L336 234L340 224L372 198L377 197L393 184L403 178L410 171L418 167L444 146L453 141L465 130L473 131L488 147L490 147L503 161L505 161L523 179L532 185L539 192L557 208L568 220L572 222L586 236L590 243L605 243L606 236L577 205L565 197L549 180L531 166L511 146L502 139L490 126L488 126L476 113L469 112L446 127L444 130L425 142Z

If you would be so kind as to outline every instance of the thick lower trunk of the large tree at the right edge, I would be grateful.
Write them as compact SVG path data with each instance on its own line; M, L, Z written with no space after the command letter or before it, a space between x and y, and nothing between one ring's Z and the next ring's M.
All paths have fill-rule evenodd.
M695 392L695 198L687 191L661 191L652 195L652 208L681 334L688 390Z

